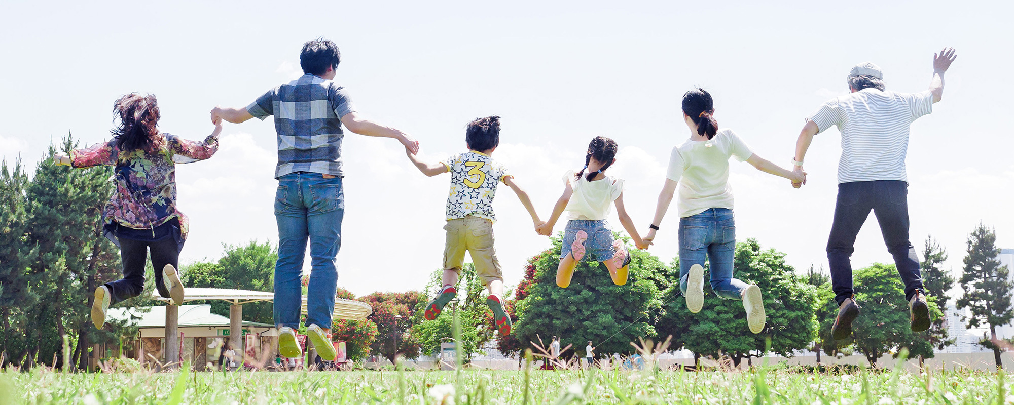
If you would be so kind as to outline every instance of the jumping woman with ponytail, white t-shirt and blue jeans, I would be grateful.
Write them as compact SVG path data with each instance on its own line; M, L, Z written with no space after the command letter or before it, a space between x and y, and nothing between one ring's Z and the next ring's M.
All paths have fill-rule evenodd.
M672 148L665 186L658 196L655 218L644 239L649 244L655 239L655 231L678 188L679 289L686 298L686 307L698 313L704 306L704 262L707 259L711 263L711 288L715 295L726 300L742 300L750 331L760 333L766 321L760 289L733 277L736 226L729 185L729 158L788 178L797 188L806 180L806 173L778 167L755 155L732 130L719 130L713 116L715 102L707 91L699 88L687 91L683 95L682 110L691 138Z

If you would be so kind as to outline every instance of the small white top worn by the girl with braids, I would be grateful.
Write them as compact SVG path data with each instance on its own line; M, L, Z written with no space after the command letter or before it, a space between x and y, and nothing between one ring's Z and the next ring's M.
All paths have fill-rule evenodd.
M564 174L564 182L571 185L574 194L567 202L568 220L602 221L609 216L611 204L624 192L624 180L605 176L595 181L588 181L584 173L581 178L574 178L574 170Z

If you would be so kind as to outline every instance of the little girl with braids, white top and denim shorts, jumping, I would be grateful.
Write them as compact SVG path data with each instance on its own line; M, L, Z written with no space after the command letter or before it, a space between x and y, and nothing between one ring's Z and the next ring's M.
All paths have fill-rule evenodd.
M561 288L570 286L574 269L581 261L601 261L609 270L613 284L627 284L630 254L623 241L613 240L612 231L605 222L610 204L615 204L620 223L637 247L648 247L624 209L624 180L605 175L605 170L617 161L615 156L614 141L605 137L591 140L584 157L584 168L576 173L570 170L564 175L564 193L553 208L553 215L535 228L539 235L549 236L560 215L564 211L570 213L564 229L560 266L557 268L557 286Z

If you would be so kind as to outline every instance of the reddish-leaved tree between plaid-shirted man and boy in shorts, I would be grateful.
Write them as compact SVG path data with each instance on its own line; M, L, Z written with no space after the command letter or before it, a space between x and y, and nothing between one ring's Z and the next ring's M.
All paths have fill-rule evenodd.
M420 292L373 293L360 299L373 307L369 319L377 325L379 336L371 345L374 354L386 357L391 363L397 355L406 358L419 356L419 341L409 332L416 322L422 321L417 308L426 305L426 300Z

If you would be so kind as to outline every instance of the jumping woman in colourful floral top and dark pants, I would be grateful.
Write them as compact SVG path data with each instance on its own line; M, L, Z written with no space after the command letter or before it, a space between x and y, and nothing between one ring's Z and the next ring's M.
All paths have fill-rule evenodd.
M110 304L137 297L144 290L144 263L151 249L158 294L183 304L179 251L187 239L187 216L176 210L175 164L210 158L218 150L221 124L204 142L188 141L157 129L154 95L131 93L113 104L120 118L113 139L70 155L57 154L58 164L72 167L116 166L116 190L102 210L105 237L120 247L124 277L95 289L91 321L105 323ZM161 271L158 271L161 269Z

